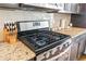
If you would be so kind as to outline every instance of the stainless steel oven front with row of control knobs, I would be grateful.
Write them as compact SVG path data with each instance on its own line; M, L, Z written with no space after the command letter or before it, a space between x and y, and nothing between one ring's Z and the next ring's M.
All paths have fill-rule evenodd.
M71 38L62 44L57 46L36 56L37 61L61 61L70 60ZM64 56L63 56L64 55Z

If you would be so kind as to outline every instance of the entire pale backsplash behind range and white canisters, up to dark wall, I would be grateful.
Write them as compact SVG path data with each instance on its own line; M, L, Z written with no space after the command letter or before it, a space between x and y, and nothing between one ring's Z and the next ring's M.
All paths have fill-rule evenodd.
M3 39L2 29L5 22L17 21L35 21L35 20L50 20L50 26L53 27L53 22L59 25L61 18L66 18L66 25L71 21L71 14L45 13L35 11L21 10L0 10L0 41Z

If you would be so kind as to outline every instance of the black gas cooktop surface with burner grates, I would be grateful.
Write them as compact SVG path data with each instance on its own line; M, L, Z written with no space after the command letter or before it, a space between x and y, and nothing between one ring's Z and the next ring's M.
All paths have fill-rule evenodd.
M36 54L61 44L67 38L70 36L51 30L27 30L19 33L19 39L36 52Z

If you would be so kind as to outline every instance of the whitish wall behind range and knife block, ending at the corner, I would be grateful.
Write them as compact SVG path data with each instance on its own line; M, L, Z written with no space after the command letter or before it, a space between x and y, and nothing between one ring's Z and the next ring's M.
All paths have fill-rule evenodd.
M50 20L50 13L20 10L0 10L0 41L3 40L2 29L5 22L33 21L33 20Z

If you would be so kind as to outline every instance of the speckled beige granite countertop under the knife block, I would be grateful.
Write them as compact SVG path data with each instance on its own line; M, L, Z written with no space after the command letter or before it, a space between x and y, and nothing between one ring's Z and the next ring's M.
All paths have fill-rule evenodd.
M35 57L35 53L23 42L14 44L0 42L0 61L26 61Z

